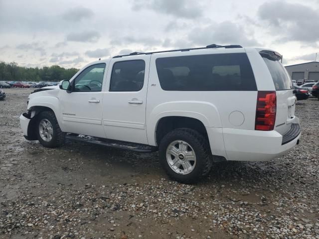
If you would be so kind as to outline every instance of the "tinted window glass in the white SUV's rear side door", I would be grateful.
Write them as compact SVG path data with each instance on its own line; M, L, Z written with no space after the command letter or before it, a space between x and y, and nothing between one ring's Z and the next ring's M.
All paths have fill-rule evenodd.
M140 91L144 85L145 61L120 61L113 65L110 91Z

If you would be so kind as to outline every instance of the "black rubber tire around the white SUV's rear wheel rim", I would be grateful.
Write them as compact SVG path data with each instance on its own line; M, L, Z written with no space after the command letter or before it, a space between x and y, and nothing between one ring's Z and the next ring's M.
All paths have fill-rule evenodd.
M166 149L175 140L187 142L194 150L196 164L194 169L188 174L178 174L173 171L166 160ZM212 155L207 139L190 128L178 128L167 133L160 141L159 145L160 164L170 178L180 183L195 183L206 176L212 166Z

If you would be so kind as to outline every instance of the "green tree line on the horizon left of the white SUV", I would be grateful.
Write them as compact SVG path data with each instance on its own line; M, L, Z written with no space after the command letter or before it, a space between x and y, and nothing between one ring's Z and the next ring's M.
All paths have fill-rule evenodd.
M0 62L0 81L51 81L69 80L79 69L54 66L42 68L22 67L15 62Z

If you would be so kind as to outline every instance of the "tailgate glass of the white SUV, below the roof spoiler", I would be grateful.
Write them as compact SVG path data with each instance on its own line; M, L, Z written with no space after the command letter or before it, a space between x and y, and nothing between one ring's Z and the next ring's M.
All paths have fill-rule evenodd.
M276 60L272 60L266 57L263 57L263 59L273 78L276 91L293 89L293 83L283 65Z

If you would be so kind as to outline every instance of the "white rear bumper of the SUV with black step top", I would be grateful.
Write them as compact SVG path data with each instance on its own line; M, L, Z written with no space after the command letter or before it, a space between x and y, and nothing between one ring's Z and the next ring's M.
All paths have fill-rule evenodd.
M285 135L279 132L224 128L223 137L227 160L268 161L290 151L301 135L300 126ZM293 127L293 126L292 126Z

